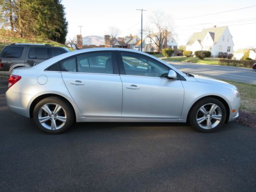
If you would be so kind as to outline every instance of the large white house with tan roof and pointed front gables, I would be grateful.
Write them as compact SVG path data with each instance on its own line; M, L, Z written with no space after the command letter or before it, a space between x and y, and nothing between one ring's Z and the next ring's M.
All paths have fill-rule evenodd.
M212 57L218 57L219 52L233 53L233 40L227 26L203 29L199 33L193 33L187 42L186 50L210 51Z

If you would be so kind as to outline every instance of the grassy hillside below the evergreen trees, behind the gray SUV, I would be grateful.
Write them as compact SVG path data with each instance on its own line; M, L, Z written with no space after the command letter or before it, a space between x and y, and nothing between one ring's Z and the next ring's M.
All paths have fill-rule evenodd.
M55 47L67 47L59 42L42 39L40 37L31 38L20 38L17 35L10 35L8 30L0 29L0 52L4 49L6 45L19 42L19 43L29 43L29 44L49 44ZM72 50L70 47L68 49Z

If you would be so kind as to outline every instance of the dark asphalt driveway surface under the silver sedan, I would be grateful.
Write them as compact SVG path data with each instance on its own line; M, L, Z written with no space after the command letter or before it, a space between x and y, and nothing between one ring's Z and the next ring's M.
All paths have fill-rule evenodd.
M185 123L76 123L47 135L6 106L0 78L0 191L254 191L256 130Z

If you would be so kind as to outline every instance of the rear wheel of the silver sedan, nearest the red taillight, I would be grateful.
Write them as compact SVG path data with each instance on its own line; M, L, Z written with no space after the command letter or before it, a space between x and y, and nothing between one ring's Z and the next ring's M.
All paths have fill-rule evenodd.
M47 97L35 105L33 119L41 131L59 134L71 127L74 122L74 112L72 106L64 99Z

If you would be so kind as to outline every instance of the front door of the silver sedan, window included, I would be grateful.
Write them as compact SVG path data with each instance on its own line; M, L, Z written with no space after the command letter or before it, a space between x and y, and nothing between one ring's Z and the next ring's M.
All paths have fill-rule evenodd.
M150 57L118 53L123 83L122 117L179 119L184 89L180 80L167 79L169 68Z

